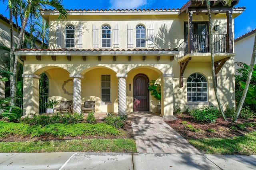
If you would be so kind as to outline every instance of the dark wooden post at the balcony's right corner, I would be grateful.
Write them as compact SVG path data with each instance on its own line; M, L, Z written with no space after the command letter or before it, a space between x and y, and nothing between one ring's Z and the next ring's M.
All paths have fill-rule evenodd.
M233 53L233 33L232 33L232 11L228 11L227 15L227 53Z

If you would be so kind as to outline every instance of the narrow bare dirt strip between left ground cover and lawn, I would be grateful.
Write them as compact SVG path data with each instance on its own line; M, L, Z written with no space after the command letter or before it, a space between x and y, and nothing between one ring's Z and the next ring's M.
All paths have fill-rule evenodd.
M102 119L97 119L96 123L102 123ZM52 135L44 135L39 137L30 138L30 136L8 136L7 138L0 138L0 142L16 142L16 141L28 141L28 140L71 140L71 139L89 139L89 138L98 138L98 139L114 139L114 138L133 138L132 123L125 122L123 128L119 130L124 131L120 135L107 135L107 136L65 136L65 137L56 137Z

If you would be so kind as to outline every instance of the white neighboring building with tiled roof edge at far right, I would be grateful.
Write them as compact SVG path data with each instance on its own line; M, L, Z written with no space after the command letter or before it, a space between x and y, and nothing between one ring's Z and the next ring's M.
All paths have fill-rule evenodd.
M254 45L255 34L256 29L235 39L235 62L242 62L250 65L252 59L252 50ZM239 63L235 64L235 69L238 68L242 68L240 67Z

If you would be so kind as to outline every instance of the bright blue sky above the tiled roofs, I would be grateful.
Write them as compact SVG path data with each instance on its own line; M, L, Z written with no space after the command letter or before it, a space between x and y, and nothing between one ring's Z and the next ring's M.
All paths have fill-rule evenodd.
M164 9L181 8L188 0L63 0L66 9ZM7 3L7 0L5 1ZM235 38L256 28L255 0L240 0L235 7L246 7L234 21ZM9 18L6 4L0 2L0 14Z

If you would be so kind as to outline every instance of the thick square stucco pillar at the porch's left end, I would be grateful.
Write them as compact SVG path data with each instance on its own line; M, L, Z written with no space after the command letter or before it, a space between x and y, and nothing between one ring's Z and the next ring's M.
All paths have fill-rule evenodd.
M23 116L39 114L39 79L36 74L22 74L23 77Z

